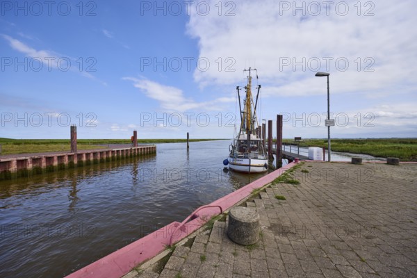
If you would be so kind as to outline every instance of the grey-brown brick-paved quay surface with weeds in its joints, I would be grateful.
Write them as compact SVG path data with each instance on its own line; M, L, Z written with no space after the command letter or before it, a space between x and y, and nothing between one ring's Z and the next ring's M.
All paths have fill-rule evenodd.
M242 206L260 215L250 246L227 219L125 277L417 277L417 164L300 163ZM286 199L277 199L277 195Z

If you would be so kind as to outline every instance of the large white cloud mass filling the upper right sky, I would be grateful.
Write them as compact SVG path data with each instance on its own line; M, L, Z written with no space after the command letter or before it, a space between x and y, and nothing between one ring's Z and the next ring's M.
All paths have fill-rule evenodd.
M314 76L318 70L331 73L336 93L383 93L400 83L408 84L406 90L417 89L413 81L417 70L414 1L366 2L375 7L358 2L360 11L356 2L344 2L349 6L345 16L341 15L344 7L336 7L338 2L330 6L328 16L325 6L320 15L313 16L316 6L303 1L306 16L302 16L302 10L294 10L295 2L273 0L234 2L231 12L235 16L224 16L231 7L223 7L219 16L218 2L208 2L213 9L206 16L190 9L188 34L198 39L200 58L233 58L236 72L219 71L217 66L206 72L196 70L194 78L200 85L235 84L242 80L243 68L256 67L265 97L320 94L322 83ZM283 3L290 9L285 10ZM364 16L367 12L374 15ZM349 65L343 72L345 60ZM367 66L374 71L365 72Z

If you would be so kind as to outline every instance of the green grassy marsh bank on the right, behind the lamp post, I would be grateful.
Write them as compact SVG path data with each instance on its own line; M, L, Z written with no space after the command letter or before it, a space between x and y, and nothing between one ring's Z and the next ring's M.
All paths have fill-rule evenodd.
M286 143L293 140L284 139ZM327 139L306 139L301 147L326 147ZM398 157L401 161L417 161L417 138L332 139L332 150L379 157Z

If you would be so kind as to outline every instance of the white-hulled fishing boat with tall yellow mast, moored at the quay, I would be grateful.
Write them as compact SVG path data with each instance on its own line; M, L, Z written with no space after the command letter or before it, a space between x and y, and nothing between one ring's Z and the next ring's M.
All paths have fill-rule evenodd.
M256 69L244 70L248 72L247 85L245 86L245 97L243 98L243 109L240 103L240 90L238 86L238 102L240 110L240 129L233 143L229 146L229 157L223 161L224 165L229 165L230 170L245 173L261 173L268 170L268 155L265 152L264 140L256 117L256 106L259 99L261 85L257 85L256 100L252 97L252 72Z

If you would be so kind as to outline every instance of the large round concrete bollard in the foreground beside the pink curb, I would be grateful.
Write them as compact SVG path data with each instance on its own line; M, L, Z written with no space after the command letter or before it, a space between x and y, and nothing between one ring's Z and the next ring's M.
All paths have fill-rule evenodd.
M259 214L253 208L237 206L229 212L227 236L240 245L251 245L259 240Z

